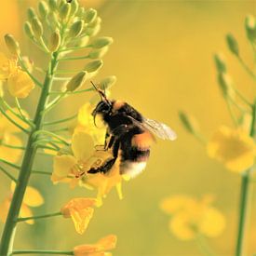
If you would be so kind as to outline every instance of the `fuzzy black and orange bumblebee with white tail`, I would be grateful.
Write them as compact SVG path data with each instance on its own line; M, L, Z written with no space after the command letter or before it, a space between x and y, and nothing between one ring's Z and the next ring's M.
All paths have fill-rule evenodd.
M103 90L92 85L101 96L92 112L94 123L96 115L101 115L107 127L104 150L112 150L113 158L99 168L90 168L88 173L107 173L120 157L120 174L135 177L146 167L155 135L174 141L176 133L163 123L145 118L125 101L108 100Z

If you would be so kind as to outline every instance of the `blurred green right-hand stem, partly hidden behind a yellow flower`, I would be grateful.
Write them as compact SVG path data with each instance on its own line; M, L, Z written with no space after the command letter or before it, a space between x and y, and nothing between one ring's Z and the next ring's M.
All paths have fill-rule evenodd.
M250 125L251 137L255 133L255 121L256 121L256 101L252 106L252 120ZM239 212L239 222L238 222L238 233L236 240L236 256L245 255L245 234L246 234L246 224L247 224L247 213L248 213L248 197L249 197L249 176L252 168L249 168L242 173L241 181L241 195L240 195L240 212Z

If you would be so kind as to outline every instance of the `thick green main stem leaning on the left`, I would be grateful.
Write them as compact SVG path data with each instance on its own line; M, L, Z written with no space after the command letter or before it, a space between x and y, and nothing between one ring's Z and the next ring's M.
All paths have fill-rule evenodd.
M7 221L4 227L3 235L0 242L0 255L11 255L13 248L13 241L15 236L15 229L17 219L20 213L21 203L26 191L27 184L30 179L32 168L34 165L34 157L36 155L37 147L33 147L34 141L37 139L34 137L34 132L41 130L44 122L43 111L46 108L47 101L49 98L49 91L53 81L53 75L58 65L58 53L53 53L51 61L48 65L47 74L45 77L44 87L40 95L40 99L37 105L37 109L34 116L35 128L30 132L30 136L27 142L26 151L23 156L20 175L18 182L12 197L10 208L7 214Z

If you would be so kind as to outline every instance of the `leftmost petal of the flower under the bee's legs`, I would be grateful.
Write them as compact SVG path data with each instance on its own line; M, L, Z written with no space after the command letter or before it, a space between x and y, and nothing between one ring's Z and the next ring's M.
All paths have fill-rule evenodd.
M73 155L56 155L53 161L52 175L60 179L66 178L77 163Z

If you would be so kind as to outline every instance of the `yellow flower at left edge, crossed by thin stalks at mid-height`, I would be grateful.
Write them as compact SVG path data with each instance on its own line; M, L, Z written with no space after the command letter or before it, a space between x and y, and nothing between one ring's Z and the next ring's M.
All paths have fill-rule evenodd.
M19 113L18 109L13 109L14 112ZM7 110L7 115L17 122L22 128L27 128L28 125L20 121L20 119ZM26 115L26 113L23 113ZM12 124L4 115L0 114L0 158L6 159L9 162L17 162L20 159L22 151L20 149L11 148L11 146L22 146L20 138L16 133L20 129Z

